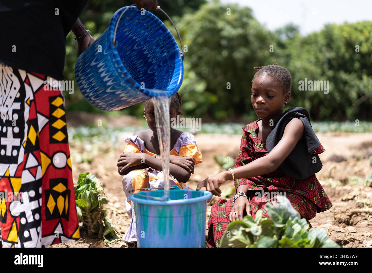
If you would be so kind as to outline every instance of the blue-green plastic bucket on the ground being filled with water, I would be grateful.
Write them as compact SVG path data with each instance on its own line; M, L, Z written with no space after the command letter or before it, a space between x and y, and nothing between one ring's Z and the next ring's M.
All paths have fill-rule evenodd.
M129 195L134 202L138 247L204 247L208 191L175 189Z

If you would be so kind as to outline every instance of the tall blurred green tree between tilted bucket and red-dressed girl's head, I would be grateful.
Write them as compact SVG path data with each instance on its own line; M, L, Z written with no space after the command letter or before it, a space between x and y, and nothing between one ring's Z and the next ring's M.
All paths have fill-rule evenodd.
M209 104L205 114L224 120L252 113L253 66L273 61L269 48L275 45L275 35L254 19L250 8L219 1L185 14L179 26L187 46L185 62L206 82L206 92L200 94Z

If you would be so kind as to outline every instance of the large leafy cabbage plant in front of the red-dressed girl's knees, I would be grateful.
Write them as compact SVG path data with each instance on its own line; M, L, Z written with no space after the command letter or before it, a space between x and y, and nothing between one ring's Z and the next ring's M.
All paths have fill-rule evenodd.
M222 236L220 247L339 247L327 236L325 228L311 228L285 196L279 203L265 206L270 218L258 211L242 221L231 222Z

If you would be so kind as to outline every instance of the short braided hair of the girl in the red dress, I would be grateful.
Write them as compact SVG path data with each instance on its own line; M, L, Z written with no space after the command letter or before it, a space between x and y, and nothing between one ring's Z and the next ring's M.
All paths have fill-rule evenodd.
M276 63L265 66L254 66L253 69L257 70L256 74L254 74L253 76L253 79L256 78L256 76L267 73L269 76L273 77L280 85L282 85L284 94L291 91L292 89L291 73L289 73L289 71L283 66L280 66Z

